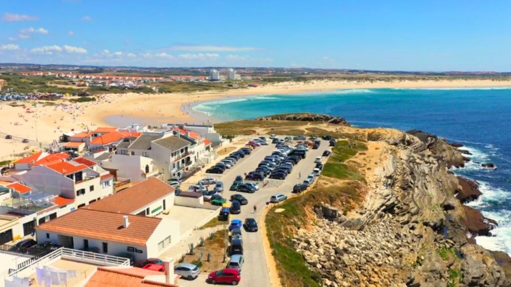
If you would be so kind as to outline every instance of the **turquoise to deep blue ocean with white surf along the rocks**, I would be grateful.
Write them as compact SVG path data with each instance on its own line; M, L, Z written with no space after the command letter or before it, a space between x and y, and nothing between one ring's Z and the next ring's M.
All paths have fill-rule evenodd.
M482 197L469 203L499 226L477 243L511 254L511 89L346 89L304 94L267 94L200 103L193 107L220 121L277 113L342 116L354 126L423 130L460 142L472 153L466 168ZM475 163L492 162L497 170Z

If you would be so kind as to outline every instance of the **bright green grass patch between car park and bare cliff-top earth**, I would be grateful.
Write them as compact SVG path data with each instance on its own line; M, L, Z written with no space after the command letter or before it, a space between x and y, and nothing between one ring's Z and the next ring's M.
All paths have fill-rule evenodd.
M359 151L366 150L367 147L360 141L338 140L332 149L332 155L323 167L322 174L327 177L364 181L363 176L343 162L356 155Z

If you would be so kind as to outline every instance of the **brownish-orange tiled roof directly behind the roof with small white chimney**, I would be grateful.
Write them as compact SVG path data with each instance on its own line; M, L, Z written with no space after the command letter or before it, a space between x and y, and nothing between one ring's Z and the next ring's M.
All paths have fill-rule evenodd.
M157 179L150 178L135 184L84 208L108 212L132 213L136 210L174 192L174 187Z

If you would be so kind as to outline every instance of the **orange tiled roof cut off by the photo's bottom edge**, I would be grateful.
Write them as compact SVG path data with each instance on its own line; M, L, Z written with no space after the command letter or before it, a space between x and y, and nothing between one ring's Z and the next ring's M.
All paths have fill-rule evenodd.
M164 273L143 268L112 269L98 267L98 270L84 287L179 287L175 284L144 280L146 276L165 276Z

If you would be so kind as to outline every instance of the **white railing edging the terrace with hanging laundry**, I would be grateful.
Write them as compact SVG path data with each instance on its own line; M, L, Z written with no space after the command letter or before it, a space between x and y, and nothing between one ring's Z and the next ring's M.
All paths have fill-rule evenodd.
M24 261L23 267L16 270L9 270L8 276L17 275L19 272L28 270L29 268L33 269L31 273L34 273L36 266L48 264L50 261L59 259L86 261L100 266L130 266L130 259L128 258L61 247L43 257Z

